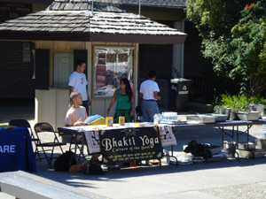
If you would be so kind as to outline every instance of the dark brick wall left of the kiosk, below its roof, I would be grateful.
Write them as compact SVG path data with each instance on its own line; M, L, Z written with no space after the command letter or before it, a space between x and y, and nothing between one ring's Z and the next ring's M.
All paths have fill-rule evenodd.
M23 43L25 42L0 42L0 99L35 97L32 79L34 64L31 53L35 44L27 42L30 60L23 62Z

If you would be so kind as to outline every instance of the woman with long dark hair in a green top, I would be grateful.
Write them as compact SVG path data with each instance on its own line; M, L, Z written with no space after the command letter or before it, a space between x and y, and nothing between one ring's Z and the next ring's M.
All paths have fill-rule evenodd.
M123 78L120 81L120 88L116 89L113 93L113 98L107 110L107 116L113 106L113 103L116 103L116 109L113 116L113 122L118 123L120 116L125 116L126 122L133 121L134 116L134 98L133 92L130 87L129 80L127 78Z

